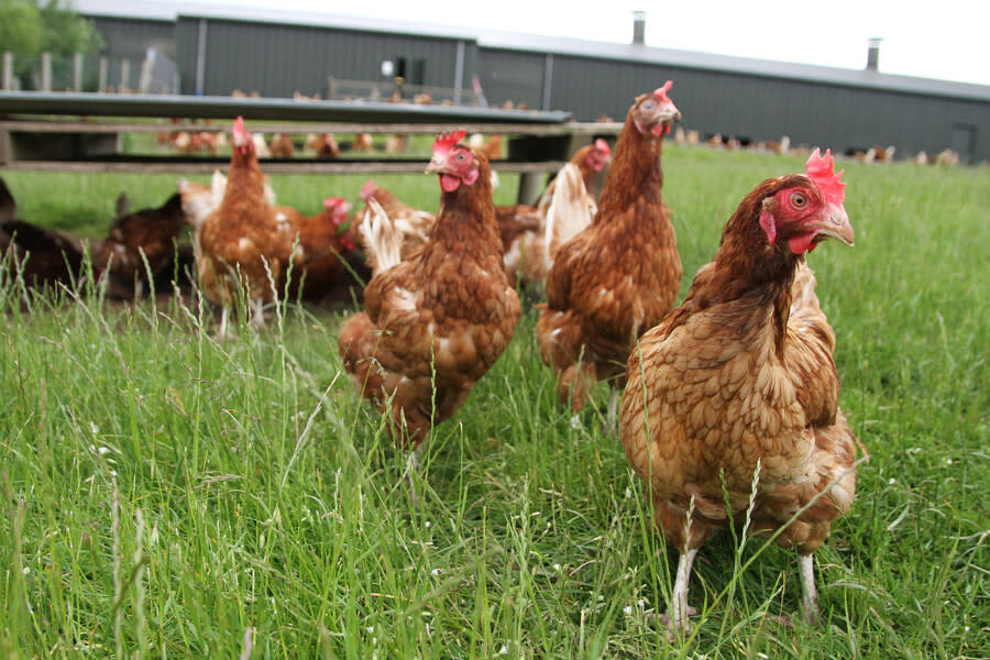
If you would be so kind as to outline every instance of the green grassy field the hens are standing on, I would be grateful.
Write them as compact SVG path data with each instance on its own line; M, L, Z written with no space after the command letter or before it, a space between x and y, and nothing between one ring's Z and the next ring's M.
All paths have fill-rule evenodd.
M282 307L220 343L200 305L95 292L25 314L8 283L3 656L990 657L990 170L840 164L857 245L810 262L871 458L816 553L818 626L774 623L798 612L795 554L726 532L695 562L692 635L668 641L652 615L676 553L602 432L606 392L580 424L556 405L531 308L435 430L414 506L404 457L341 373L346 310ZM743 196L802 169L667 150L682 295ZM175 179L3 176L25 220L89 235L121 190L156 206ZM432 177L381 180L436 208ZM306 212L361 183L273 177Z

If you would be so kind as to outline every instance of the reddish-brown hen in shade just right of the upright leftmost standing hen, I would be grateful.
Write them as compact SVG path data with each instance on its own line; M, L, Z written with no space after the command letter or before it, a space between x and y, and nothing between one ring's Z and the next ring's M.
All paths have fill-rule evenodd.
M302 218L294 228L296 248L289 278L289 298L320 301L341 285L355 283L366 276L362 258L350 232L343 226L349 220L351 205L339 197L323 200L323 211ZM342 229L343 228L343 229Z

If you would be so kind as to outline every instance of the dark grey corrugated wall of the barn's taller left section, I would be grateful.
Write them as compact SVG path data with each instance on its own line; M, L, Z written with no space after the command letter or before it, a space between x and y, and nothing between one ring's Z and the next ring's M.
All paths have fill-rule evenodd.
M179 18L183 92L195 94L199 19ZM384 59L406 59L407 79L422 63L422 85L454 87L458 42L409 35L207 19L204 94L233 89L264 97L327 94L329 76L382 80ZM465 53L466 55L466 53ZM474 63L471 63L474 66ZM465 72L471 72L465 66ZM468 78L470 80L470 77Z

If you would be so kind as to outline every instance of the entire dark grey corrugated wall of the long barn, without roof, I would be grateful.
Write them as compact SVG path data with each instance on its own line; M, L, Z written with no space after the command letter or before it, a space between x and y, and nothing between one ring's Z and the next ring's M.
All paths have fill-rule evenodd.
M169 52L169 23L95 20L111 53L138 58L147 45ZM207 95L226 96L233 89L270 97L324 95L328 76L382 80L382 61L397 57L405 57L410 68L422 61L425 85L454 87L454 38L218 19L206 23ZM196 92L199 24L198 18L179 16L174 28L172 52L183 94ZM549 58L548 81L544 52L460 43L463 88L471 89L476 74L493 106L512 100L568 110L582 121L602 116L623 121L639 94L672 79L682 125L704 136L760 141L789 135L793 143L838 152L894 145L902 156L953 147L964 161L990 160L990 113L982 100L559 53Z

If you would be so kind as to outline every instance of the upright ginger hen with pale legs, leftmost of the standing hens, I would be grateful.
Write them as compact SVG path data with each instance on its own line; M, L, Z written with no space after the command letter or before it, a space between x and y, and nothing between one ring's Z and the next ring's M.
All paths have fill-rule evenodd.
M230 308L245 289L251 320L263 324L264 304L275 298L275 285L292 255L294 227L301 221L295 209L266 201L265 177L243 118L234 121L232 133L223 199L196 230L193 241L204 294L222 307L221 337L227 333Z

